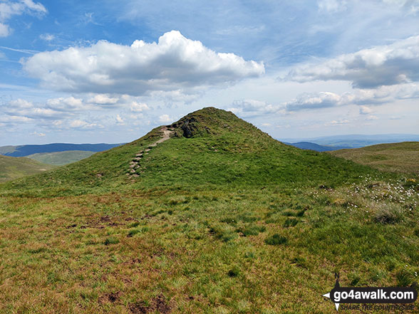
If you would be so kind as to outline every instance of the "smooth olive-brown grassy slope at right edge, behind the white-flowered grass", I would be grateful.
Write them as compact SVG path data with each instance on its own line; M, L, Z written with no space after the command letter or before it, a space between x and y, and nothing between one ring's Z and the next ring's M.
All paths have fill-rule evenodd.
M419 142L380 144L331 154L384 171L419 174Z

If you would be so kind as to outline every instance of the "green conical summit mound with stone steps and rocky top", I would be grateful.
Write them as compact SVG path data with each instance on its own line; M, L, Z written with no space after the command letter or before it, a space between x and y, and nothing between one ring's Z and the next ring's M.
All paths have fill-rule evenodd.
M162 186L266 186L342 182L371 171L274 140L232 112L203 108L112 150L36 177L12 190L54 195Z

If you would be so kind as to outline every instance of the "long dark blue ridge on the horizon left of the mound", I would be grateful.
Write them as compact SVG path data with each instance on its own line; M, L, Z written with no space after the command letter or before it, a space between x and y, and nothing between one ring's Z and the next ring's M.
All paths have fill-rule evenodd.
M0 154L11 157L26 157L43 152L66 152L68 150L81 150L86 152L103 152L122 144L68 144L53 143L45 145L20 145L20 146L2 146Z

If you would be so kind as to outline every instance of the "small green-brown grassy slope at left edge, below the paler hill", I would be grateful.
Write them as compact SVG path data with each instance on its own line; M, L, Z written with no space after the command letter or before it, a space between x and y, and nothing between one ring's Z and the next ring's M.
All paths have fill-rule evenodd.
M0 155L0 182L46 172L52 168L49 164L41 164L28 158Z

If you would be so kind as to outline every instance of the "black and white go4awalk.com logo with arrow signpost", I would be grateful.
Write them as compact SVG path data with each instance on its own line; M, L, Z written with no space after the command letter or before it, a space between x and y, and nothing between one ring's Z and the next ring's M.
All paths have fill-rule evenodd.
M335 303L336 310L341 304L344 304L343 309L346 310L413 310L415 305L411 303L418 298L416 283L410 287L341 287L338 273L335 273L335 278L334 288L323 296ZM371 305L371 303L392 305Z

